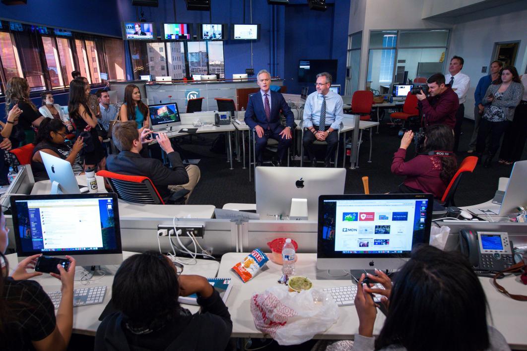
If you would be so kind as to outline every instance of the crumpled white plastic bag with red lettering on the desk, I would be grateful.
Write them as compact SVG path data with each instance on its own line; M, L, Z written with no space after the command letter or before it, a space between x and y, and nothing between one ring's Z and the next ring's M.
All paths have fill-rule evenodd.
M280 345L304 343L325 332L339 317L337 304L328 294L316 289L290 293L287 286L252 295L251 313L256 328Z

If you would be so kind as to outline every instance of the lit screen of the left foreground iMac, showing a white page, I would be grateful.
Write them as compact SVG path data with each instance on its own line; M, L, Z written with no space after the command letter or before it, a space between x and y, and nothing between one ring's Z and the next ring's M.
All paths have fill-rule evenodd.
M23 253L115 250L112 197L17 200Z

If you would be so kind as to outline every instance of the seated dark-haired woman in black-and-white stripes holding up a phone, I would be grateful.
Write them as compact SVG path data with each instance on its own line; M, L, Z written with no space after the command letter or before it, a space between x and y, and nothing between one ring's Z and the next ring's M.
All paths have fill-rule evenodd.
M64 143L66 134L66 127L58 119L46 118L40 124L33 142L35 148L31 157L31 169L35 179L49 179L42 162L41 152L60 157L71 163L75 175L84 174L84 167L79 154L84 145L83 139L82 137L77 138L73 147L70 147Z

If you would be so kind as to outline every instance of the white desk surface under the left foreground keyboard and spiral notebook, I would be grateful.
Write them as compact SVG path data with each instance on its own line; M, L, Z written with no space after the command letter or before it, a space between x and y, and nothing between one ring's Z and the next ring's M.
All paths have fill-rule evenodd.
M135 253L124 251L123 259L126 259L133 254ZM7 259L9 261L9 269L12 271L17 265L17 256L16 254L10 254L7 255ZM216 261L198 259L197 265L186 265L183 268L183 274L197 274L204 277L214 277L218 272L218 267L219 263ZM82 285L80 281L77 281L80 279L80 273L75 274L75 289L93 286L107 286L108 288L106 288L106 295L102 304L73 307L74 333L95 335L99 324L101 324L101 322L99 321L99 316L101 315L104 310L104 307L106 307L106 304L108 304L110 298L112 297L113 277L115 276L115 272L119 267L107 266L107 268L110 270L111 275L106 275L99 280L94 280L93 282L91 282L91 284L88 285ZM82 268L77 267L76 272L81 272L81 269ZM95 277L95 279L96 278L97 276ZM35 277L33 278L33 280L36 280L40 285L42 285L42 288L47 293L56 292L61 289L60 281L48 274L43 274L41 276ZM188 308L192 313L196 313L199 310L199 306L183 306L185 308Z

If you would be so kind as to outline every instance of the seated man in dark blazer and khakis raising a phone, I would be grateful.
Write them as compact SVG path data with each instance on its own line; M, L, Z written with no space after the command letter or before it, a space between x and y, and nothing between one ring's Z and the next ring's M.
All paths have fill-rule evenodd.
M148 143L147 135L152 132L143 129L141 134L134 121L117 123L112 128L112 139L116 148L121 152L119 155L108 156L106 169L110 172L139 175L149 177L158 189L159 195L167 201L172 191L187 189L187 201L192 190L199 182L200 171L196 165L183 166L181 157L172 148L170 139L164 133L158 133L156 137L159 146L167 153L172 168L167 168L159 159L142 157L143 143Z

